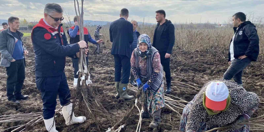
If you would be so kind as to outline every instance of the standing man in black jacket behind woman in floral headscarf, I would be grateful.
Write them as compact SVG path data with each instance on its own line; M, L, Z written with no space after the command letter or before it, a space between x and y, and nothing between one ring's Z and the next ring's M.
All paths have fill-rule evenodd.
M164 68L167 82L167 89L165 93L169 94L171 92L170 56L175 43L175 29L171 21L165 19L165 17L166 13L164 10L156 11L155 18L158 24L155 28L152 46L160 52L161 64Z

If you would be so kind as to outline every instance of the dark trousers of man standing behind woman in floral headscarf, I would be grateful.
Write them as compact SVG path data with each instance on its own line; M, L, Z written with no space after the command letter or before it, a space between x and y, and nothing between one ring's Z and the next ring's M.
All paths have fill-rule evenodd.
M171 76L170 76L170 58L165 58L166 52L160 52L161 55L161 64L163 66L166 82L171 82Z

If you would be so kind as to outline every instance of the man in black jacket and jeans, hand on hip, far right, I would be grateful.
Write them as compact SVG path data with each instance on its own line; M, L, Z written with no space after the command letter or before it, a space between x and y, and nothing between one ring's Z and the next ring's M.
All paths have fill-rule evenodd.
M223 75L223 79L234 79L243 86L242 73L251 61L256 61L259 55L259 36L256 26L246 21L246 15L242 12L232 16L234 24L234 36L230 41L228 52L229 68Z

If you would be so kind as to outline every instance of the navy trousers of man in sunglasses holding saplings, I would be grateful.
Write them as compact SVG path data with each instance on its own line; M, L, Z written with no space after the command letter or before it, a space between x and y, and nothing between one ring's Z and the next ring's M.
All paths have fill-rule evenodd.
M36 77L36 85L38 90L41 91L44 119L50 119L54 116L57 95L59 95L61 106L70 101L70 89L65 73L60 76Z

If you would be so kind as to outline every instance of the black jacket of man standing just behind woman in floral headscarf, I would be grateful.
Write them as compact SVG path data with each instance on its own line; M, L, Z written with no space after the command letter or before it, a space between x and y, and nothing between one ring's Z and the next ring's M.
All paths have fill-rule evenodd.
M164 27L161 30L160 42L156 44L156 30L160 25L160 23L158 23L154 31L152 46L158 49L159 52L166 52L171 54L175 43L175 28L170 20L166 19L166 21L163 24Z

